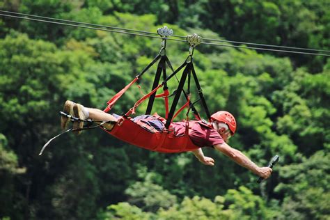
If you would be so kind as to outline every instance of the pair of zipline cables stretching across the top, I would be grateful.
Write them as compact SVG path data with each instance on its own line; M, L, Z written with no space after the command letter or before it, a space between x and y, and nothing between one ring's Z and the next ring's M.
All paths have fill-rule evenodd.
M173 39L173 38L162 38L162 37L159 37L159 36L155 36L155 35L157 35L156 33L148 32L148 31L123 29L123 28L118 28L118 27L113 27L113 26L104 26L104 25L100 25L100 24L90 24L90 23L84 23L84 22L74 22L74 21L65 20L65 19L42 17L42 16L38 16L38 15L27 15L27 14L23 14L23 13L13 13L13 12L5 11L5 10L0 10L0 12L12 13L12 14L15 14L15 15L24 15L24 16L27 16L27 17L15 16L15 15L6 15L6 14L1 14L0 13L0 15L5 16L5 17L15 17L15 18L19 18L19 19L29 19L29 20L36 21L36 22L47 22L47 23L52 23L52 24L76 26L76 27L81 27L81 28L86 28L86 29L109 31L109 32L114 32L114 33L125 33L125 34L134 35L134 36L143 36L143 37L148 37L148 38L160 38L160 39L166 39L166 40L175 40L175 41L180 41L180 42L187 42L186 40L179 40L179 39ZM44 19L34 19L34 18L31 18L31 17L40 17L40 18L45 18L45 19L57 20L57 21L61 21L61 22L54 22L54 21L49 21L49 20L44 20ZM73 24L68 24L68 23L63 23L63 22L70 22L70 23L73 23ZM82 24L82 25L78 25L78 24ZM93 26L99 26L99 27L103 27L103 28L101 29L101 28L97 28L97 27L93 27ZM122 31L116 31L116 30L110 30L110 29L118 29L118 30L122 30ZM126 32L126 31L132 31L132 32L137 32L137 33L130 33L130 32ZM150 36L151 34L153 36ZM186 38L184 36L174 36L174 37ZM208 39L208 38L205 38L204 40L209 40L209 41L213 40L213 41L217 41L217 42L234 42L234 41L229 41L229 40L217 40L217 39ZM238 42L236 42L236 43L238 43ZM254 43L249 43L249 42L239 42L239 43L245 43L246 45L248 45L248 44L249 45L262 45L262 44L254 44ZM293 54L307 54L307 55L314 55L314 56L330 56L330 54L315 54L315 53L308 53L308 52L297 52L297 51L289 51L289 50L281 50L281 49L268 49L268 48L261 48L261 47L224 45L224 44L217 44L217 43L210 43L210 42L201 42L201 44L221 46L221 47L236 47L236 48L244 48L244 49L256 49L256 50L265 50L265 51L273 51L273 52L285 52L285 53L293 53ZM285 46L276 46L276 45L262 45L262 46L283 47L283 48L290 48L290 49L305 49L305 50L311 50L311 51L316 51L316 52L330 52L330 51L327 51L327 50L306 49L306 48L299 48L299 47L285 47Z

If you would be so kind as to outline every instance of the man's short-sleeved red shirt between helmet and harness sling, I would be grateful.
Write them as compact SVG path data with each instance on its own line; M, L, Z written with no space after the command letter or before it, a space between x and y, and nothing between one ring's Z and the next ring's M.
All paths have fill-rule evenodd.
M184 135L186 122L172 123L176 136ZM208 127L204 123L194 123L189 132L191 141L200 147L212 147L216 144L224 143L222 137L216 129Z

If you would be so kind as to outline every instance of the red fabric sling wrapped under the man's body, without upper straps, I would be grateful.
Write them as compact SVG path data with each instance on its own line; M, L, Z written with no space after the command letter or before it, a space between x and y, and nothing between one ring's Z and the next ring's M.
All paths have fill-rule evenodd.
M193 122L191 122L193 123ZM130 143L140 148L145 148L157 152L174 153L196 150L201 148L196 146L188 134L175 136L171 127L163 132L150 131L134 123L131 118L122 117L109 132L117 139Z

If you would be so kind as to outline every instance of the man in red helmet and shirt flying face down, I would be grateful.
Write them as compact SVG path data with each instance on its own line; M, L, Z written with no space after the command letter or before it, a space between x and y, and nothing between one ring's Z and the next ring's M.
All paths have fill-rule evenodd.
M118 117L116 115L112 115L109 113L105 113L100 109L92 109L86 108L81 104L74 103L72 101L66 101L64 104L63 111L65 113L70 114L76 118L92 119L95 121L113 121L116 122ZM146 123L149 123L150 126L155 127L155 129L162 129L164 127L164 123L158 118L152 118L153 116L138 116L133 120L142 120L148 118ZM151 120L150 120L151 119ZM236 121L234 116L228 111L218 111L211 116L212 123L207 124L202 121L198 121L198 123L194 123L193 127L189 128L189 138L191 139L197 148L195 150L191 150L194 153L195 157L205 165L214 166L214 159L211 157L205 157L203 154L202 147L211 146L214 149L222 152L224 155L230 157L234 162L248 168L250 171L259 175L261 178L269 178L272 173L272 168L269 167L259 167L255 163L251 161L246 155L235 148L231 148L227 142L231 136L235 134L236 131ZM61 127L64 129L66 125L70 122L68 117L61 117ZM175 134L180 136L185 132L184 122L172 123L172 126L175 130ZM84 122L82 121L74 121L73 128L79 129L84 126ZM102 125L105 129L111 131L113 129L113 124L106 123Z

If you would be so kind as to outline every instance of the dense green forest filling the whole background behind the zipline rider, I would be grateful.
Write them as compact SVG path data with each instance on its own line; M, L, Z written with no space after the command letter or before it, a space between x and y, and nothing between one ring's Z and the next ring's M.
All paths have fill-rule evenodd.
M328 0L2 0L0 8L150 32L166 25L179 36L330 49ZM100 129L63 136L38 156L60 132L65 100L104 109L152 61L160 42L0 16L0 219L330 219L327 56L196 47L210 111L226 109L237 118L230 145L260 166L280 155L262 184L212 149L205 149L216 161L210 167L189 152L150 152ZM175 68L188 49L168 41ZM144 93L154 72L139 81ZM139 97L134 86L113 112L127 111ZM164 112L162 100L154 110Z

